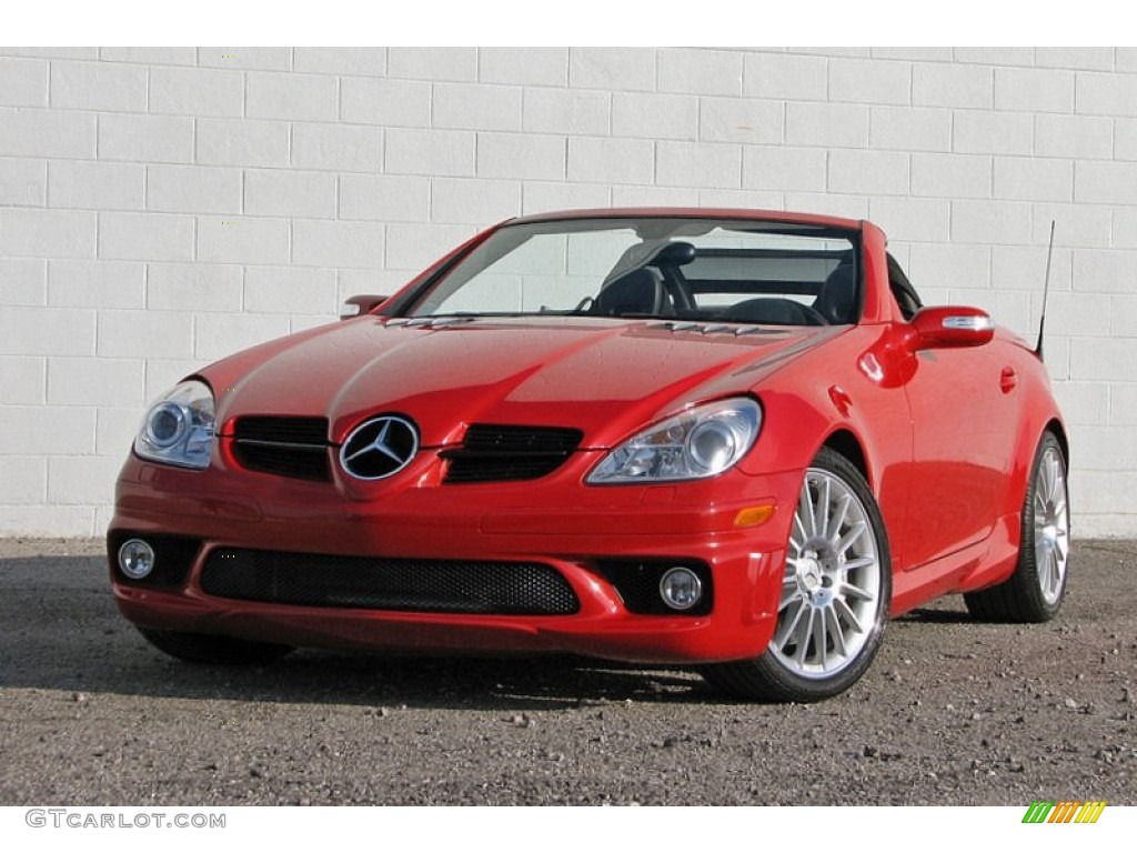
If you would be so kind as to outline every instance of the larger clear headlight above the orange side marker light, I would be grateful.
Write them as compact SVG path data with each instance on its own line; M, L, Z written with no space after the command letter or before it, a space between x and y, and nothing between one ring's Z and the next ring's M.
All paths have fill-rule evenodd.
M632 436L586 482L699 480L735 466L754 445L762 408L748 397L696 406Z

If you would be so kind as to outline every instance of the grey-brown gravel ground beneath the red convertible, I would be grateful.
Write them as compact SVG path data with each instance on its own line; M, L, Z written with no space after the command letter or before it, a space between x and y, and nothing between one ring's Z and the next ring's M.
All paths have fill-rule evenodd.
M561 657L191 666L118 616L101 547L0 540L0 805L1137 804L1137 543L1078 543L1049 624L894 621L816 705Z

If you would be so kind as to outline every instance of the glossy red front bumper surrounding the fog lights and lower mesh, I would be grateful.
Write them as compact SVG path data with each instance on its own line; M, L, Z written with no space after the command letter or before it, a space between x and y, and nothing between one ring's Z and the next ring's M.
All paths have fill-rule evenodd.
M292 646L451 653L567 652L646 663L706 663L765 651L777 620L785 548L800 472L731 471L700 483L439 486L409 479L367 499L225 466L204 472L131 457L118 482L111 541L174 536L191 544L173 585L131 581L115 568L122 613L149 628ZM738 512L777 507L757 527ZM549 508L555 507L555 508ZM533 562L555 569L578 612L508 615L407 612L238 601L209 595L202 570L217 549ZM599 570L606 560L696 561L713 577L703 615L634 613Z

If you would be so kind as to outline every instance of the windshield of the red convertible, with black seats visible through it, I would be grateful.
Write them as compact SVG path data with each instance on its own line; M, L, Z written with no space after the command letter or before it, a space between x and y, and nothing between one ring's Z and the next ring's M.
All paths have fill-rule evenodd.
M405 313L855 323L856 240L855 231L745 220L507 225Z

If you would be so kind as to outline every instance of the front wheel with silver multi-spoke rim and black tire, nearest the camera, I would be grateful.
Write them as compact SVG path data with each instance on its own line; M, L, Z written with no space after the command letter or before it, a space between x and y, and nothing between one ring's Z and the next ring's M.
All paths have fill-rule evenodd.
M786 555L765 653L702 670L733 696L829 698L852 687L880 647L891 601L888 536L864 477L828 447L805 473Z

